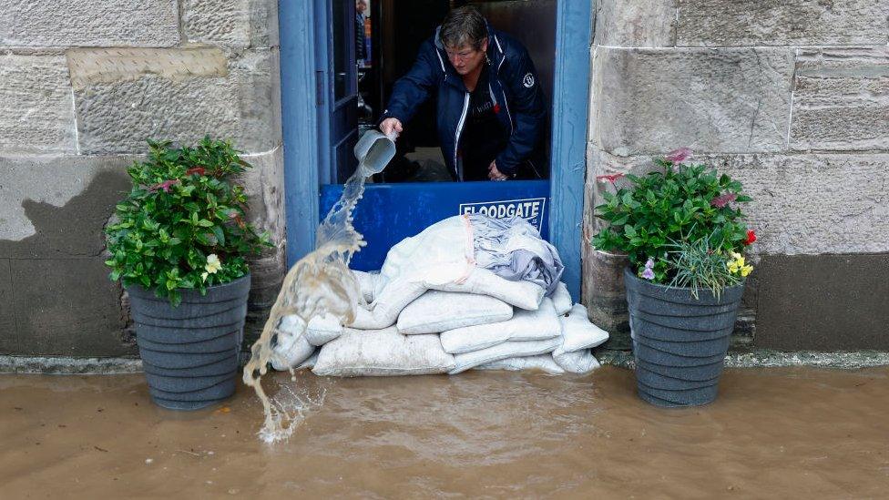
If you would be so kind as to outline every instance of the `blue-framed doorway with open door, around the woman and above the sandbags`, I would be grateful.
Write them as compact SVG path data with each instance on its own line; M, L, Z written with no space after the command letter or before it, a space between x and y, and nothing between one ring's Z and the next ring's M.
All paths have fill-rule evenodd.
M368 189L363 205L382 212L389 225L415 233L416 228L408 228L410 224L406 222L417 222L423 217L442 219L461 211L483 209L506 213L510 209L509 202L513 202L512 209L521 206L523 213L532 214L535 211L529 209L526 201L544 199L536 206L536 224L557 246L567 267L565 281L577 296L592 5L565 0L443 1L441 5L397 0L365 2L364 26L357 26L355 22L360 13L353 0L312 0L309 8L298 8L291 2L281 2L280 5L289 263L312 250L314 228L325 209L325 199L335 195L337 184L354 168L351 158L354 141L362 127L375 125L394 78L400 76L404 66L413 64L419 43L411 43L411 37L422 41L434 32L434 26L440 23L448 8L472 3L492 26L517 38L525 37L538 74L551 88L546 93L551 99L552 117L552 130L548 134L551 142L548 158L552 165L549 179L506 183L441 182L432 189L428 184L403 182L405 179L422 180L410 179L415 173L411 171L414 166L410 166L401 172L405 179L374 179L377 182ZM422 4L422 8L417 8L417 4ZM550 26L544 27L547 13ZM365 39L360 40L361 36ZM548 42L544 44L542 41L547 38ZM366 50L364 60L358 57L356 46L362 41ZM307 46L314 47L311 57L300 50ZM350 71L353 75L349 75ZM547 73L549 76L545 77ZM311 93L305 92L309 89ZM307 99L307 96L314 98ZM422 160L425 165L430 165L436 160L437 144L434 144L434 134L429 134L434 127L418 123L420 125L414 127L412 122L414 136L404 141L404 158L413 163ZM320 168L314 168L312 172L312 165ZM428 168L420 170L429 171ZM399 173L397 168L393 173ZM472 184L477 186L470 186ZM510 195L510 189L506 187L516 189L518 194ZM430 195L430 192L438 191L440 197ZM374 196L375 202L371 202L369 199ZM455 205L461 197L465 202ZM455 205L448 209L454 213L436 212L448 202ZM420 205L429 213L421 213ZM397 221L399 210L404 212L402 222ZM384 256L384 250L388 250L386 241L373 241L372 234L373 230L365 234L369 241L365 250L370 250L373 245L379 247L381 250L377 253ZM370 253L368 251L365 256L373 257Z

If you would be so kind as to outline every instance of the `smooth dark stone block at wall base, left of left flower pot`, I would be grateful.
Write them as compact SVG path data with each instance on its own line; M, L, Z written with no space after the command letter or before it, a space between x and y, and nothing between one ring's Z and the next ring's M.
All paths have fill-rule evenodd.
M26 356L135 354L123 341L121 290L103 259L11 260L18 328L0 336L0 352Z

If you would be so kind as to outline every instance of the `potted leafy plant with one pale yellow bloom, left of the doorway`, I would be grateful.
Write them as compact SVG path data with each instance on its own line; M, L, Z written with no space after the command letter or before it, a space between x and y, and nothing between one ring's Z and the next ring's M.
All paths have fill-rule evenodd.
M250 165L230 143L148 144L148 159L128 168L132 189L106 228L106 264L128 292L152 399L193 410L234 392L250 292L246 256L269 237L244 221L247 196L230 179Z

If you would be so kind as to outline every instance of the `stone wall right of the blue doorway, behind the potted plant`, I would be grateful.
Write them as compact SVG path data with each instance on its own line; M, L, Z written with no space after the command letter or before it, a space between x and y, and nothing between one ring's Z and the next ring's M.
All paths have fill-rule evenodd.
M595 176L690 147L754 198L747 342L889 349L889 0L596 4L585 233Z

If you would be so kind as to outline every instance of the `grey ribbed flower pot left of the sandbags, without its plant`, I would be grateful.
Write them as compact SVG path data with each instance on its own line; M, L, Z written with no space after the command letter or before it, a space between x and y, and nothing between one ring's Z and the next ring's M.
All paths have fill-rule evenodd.
M209 287L207 295L182 291L182 303L175 308L154 291L138 286L127 291L155 403L197 410L234 393L250 274Z

